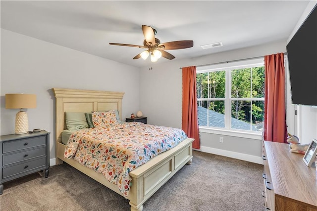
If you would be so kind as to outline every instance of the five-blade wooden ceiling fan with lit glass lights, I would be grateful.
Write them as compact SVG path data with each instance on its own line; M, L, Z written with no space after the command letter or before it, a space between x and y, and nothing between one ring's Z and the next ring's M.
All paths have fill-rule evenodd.
M192 40L181 40L181 41L172 41L167 43L160 43L159 39L155 37L157 30L151 26L142 25L142 31L145 40L143 41L143 46L130 45L130 44L121 44L121 43L109 43L110 45L115 46L129 46L129 47L138 47L140 49L147 49L142 53L137 54L133 59L138 59L142 57L147 59L151 55L151 61L157 61L161 56L167 59L173 59L175 56L164 51L164 50L177 50L177 49L187 49L193 47L194 43Z

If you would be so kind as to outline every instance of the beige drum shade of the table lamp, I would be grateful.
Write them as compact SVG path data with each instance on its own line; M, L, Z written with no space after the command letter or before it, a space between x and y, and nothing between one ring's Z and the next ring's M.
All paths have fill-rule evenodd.
M36 108L36 95L5 94L5 108Z

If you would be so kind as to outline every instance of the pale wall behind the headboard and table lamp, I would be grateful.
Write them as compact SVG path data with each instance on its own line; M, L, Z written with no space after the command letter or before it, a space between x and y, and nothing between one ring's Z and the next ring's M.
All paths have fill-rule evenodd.
M139 109L139 68L47 43L1 29L0 134L14 133L18 109L5 109L6 93L36 94L37 107L27 109L29 129L51 132L55 158L55 101L52 88L125 92L122 118ZM133 81L133 83L131 83Z

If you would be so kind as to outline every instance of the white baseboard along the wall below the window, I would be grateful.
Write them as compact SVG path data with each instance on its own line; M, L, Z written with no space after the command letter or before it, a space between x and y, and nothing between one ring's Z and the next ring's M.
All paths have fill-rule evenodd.
M258 157L258 156L251 156L251 155L247 155L247 154L243 154L243 153L236 153L236 152L232 152L232 151L220 150L220 149L211 148L211 147L204 147L204 146L201 146L201 149L198 151L201 151L204 153L211 153L211 154L218 155L218 156L225 156L225 157L229 157L229 158L241 159L241 160L254 162L254 163L258 163L258 164L263 165L262 157Z

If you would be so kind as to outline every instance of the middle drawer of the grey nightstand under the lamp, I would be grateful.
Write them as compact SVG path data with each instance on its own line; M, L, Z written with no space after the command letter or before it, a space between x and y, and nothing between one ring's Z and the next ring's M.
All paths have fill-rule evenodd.
M15 162L28 160L31 158L37 158L37 157L41 157L41 156L45 156L45 155L46 155L46 147L44 146L41 148L23 151L20 153L5 154L5 155L3 155L2 162L3 162L3 165L8 165L8 164L12 164Z

